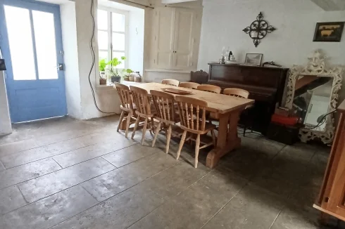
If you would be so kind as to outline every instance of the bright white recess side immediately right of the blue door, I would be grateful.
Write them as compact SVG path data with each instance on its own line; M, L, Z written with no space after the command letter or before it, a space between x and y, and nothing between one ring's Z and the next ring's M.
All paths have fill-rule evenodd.
M63 59L65 62L65 87L68 115L82 117L80 100L79 63L77 55L77 25L75 3L66 2L60 6L63 38Z

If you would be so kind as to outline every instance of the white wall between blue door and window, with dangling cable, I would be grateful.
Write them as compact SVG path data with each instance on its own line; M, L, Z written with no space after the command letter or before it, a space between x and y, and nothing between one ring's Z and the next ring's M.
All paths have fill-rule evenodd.
M110 114L103 114L96 110L92 91L89 86L89 71L92 67L92 54L90 50L90 41L92 37L92 16L91 0L76 0L75 14L77 24L77 55L79 60L79 77L80 77L80 95L82 105L81 119L91 119L94 117L102 117ZM94 0L94 9L97 8L97 1ZM97 28L96 28L97 30ZM113 88L98 87L96 79L98 80L98 53L97 53L97 39L94 39L94 48L96 54L96 62L92 68L90 80L94 86L94 92L97 104L103 112L119 112L120 107L118 103L118 96Z

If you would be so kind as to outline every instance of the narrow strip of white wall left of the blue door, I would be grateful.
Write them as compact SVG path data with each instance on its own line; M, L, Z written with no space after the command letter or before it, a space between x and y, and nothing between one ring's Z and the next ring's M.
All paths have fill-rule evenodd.
M4 72L0 71L0 136L12 133Z

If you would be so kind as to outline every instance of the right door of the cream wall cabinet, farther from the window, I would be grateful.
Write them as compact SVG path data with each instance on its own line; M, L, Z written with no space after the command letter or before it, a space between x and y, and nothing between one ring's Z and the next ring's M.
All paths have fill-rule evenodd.
M187 70L192 67L194 20L194 11L187 8L176 8L172 63L172 68L175 70Z

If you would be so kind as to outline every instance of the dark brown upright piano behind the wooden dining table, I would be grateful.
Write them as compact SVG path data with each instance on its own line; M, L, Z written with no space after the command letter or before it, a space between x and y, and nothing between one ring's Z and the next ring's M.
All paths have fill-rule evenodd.
M238 88L249 91L255 100L248 115L242 115L240 124L251 123L254 131L266 133L275 105L282 102L288 68L256 67L247 65L221 65L209 63L208 78L192 79L199 84L213 84L222 89ZM251 120L247 120L251 119Z

